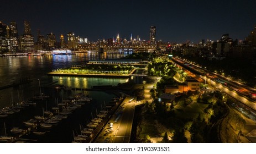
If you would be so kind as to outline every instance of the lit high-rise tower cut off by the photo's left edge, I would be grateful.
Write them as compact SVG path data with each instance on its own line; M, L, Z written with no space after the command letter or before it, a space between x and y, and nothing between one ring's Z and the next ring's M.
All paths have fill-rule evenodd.
M8 51L8 41L7 41L7 25L0 21L0 51Z

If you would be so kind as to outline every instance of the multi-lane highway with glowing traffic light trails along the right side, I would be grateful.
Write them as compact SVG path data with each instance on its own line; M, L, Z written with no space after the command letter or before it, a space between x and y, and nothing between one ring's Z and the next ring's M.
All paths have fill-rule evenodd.
M248 97L248 92L253 94L255 93L255 89L240 83L238 84L221 75L208 72L207 70L197 67L196 65L188 63L180 58L173 58L172 60L176 64L180 65L180 67L194 74L194 78L201 83L206 83L211 87L215 87L215 89L225 92L227 95L242 102L244 107L247 107L247 109L253 109L253 111L256 111L256 101Z

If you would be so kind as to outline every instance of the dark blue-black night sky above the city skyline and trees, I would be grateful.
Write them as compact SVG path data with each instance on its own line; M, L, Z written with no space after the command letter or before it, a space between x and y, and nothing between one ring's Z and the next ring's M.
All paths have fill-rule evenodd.
M85 0L19 1L2 0L0 21L16 21L18 34L24 33L24 20L32 34L53 32L59 40L68 32L97 41L119 36L149 40L150 26L156 26L156 40L198 43L219 40L223 34L244 40L256 25L254 0Z

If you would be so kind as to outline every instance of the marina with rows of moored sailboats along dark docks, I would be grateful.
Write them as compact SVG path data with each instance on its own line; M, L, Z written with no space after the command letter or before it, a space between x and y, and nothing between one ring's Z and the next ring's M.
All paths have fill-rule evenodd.
M19 125L18 127L13 127L12 129L9 130L9 134L12 136L9 136L9 138L1 138L1 142L16 142L17 140L26 140L26 141L38 141L41 142L40 138L41 136L47 136L47 134L51 134L51 131L54 131L52 129L57 129L59 124L64 124L65 120L74 120L74 118L78 118L77 115L74 117L74 114L79 114L77 113L77 110L80 110L80 112L83 111L84 106L87 106L88 104L91 103L91 98L82 95L81 93L77 94L76 96L73 97L74 100L66 100L65 104L59 107L56 110L51 109L51 112L49 114L46 114L44 111L44 107L42 107L42 113L39 116L34 116L30 117L30 119L23 121L22 125ZM82 101L81 103L80 98L87 98L86 101ZM121 98L118 98L118 101L122 101ZM45 97L45 100L49 100L49 97ZM113 100L113 99L112 99ZM42 100L36 100L36 106L42 106L44 102ZM108 106L111 106L111 108L106 108L104 109L101 107L101 110L99 113L95 113L95 117L93 118L93 113L91 112L91 119L90 121L86 121L86 123L80 123L80 135L89 135L88 133L91 134L98 134L99 131L101 130L98 125L103 125L104 122L106 124L106 120L110 114L113 114L113 109L115 109L119 103L116 101L115 104L113 104L112 101L109 101ZM59 106L59 105L58 105ZM28 112L30 109L30 106L24 107L23 111ZM45 106L46 109L46 106ZM108 113L109 111L109 113ZM110 112L112 111L112 112ZM43 115L43 116L41 116ZM16 115L18 116L18 114ZM12 115L7 118L14 118L15 116ZM3 120L4 117L2 117L1 120ZM4 123L5 124L5 123ZM66 123L68 124L68 123ZM104 125L105 125L104 124ZM83 129L81 129L81 127ZM72 128L74 129L74 128ZM5 129L6 130L6 129ZM72 130L74 131L74 130ZM77 132L77 129L76 129ZM74 135L73 135L74 136ZM87 136L88 137L88 136ZM92 141L93 138L85 138L85 140L79 140L81 136L78 138L77 136L74 136L74 141L79 141L79 142L90 142ZM49 140L52 140L50 137L48 137ZM70 139L71 142L71 139Z

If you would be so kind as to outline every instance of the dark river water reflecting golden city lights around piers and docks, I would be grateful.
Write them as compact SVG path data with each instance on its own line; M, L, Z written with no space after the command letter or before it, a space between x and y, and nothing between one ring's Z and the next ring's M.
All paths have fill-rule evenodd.
M102 60L125 57L126 52L86 52L76 53L69 56L17 56L17 57L0 57L0 87L20 80L31 79L31 83L23 84L16 87L9 87L0 90L0 108L11 106L20 101L32 98L35 94L41 92L51 95L48 102L36 103L36 106L30 106L22 109L18 113L11 116L0 118L0 136L12 135L10 130L13 127L26 129L24 121L33 118L42 113L42 108L50 110L56 105L56 101L60 102L61 98L67 98L74 94L74 91L56 91L43 88L44 85L58 81L56 84L76 88L77 92L82 92L81 88L91 88L95 85L117 85L118 83L126 83L128 79L123 78L87 78L75 76L48 76L47 73L53 69L71 67L71 65L84 65L90 60ZM72 114L64 122L61 121L58 126L46 130L46 135L35 136L28 135L23 138L34 140L35 142L72 142L73 132L78 132L80 125L86 125L88 120L100 111L102 106L111 98L115 97L112 93L102 91L87 91L89 97L92 98L91 103L87 103L82 109ZM6 128L4 129L4 124ZM36 128L40 131L41 128Z

